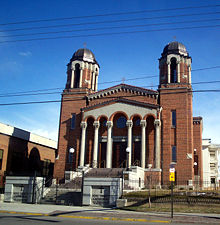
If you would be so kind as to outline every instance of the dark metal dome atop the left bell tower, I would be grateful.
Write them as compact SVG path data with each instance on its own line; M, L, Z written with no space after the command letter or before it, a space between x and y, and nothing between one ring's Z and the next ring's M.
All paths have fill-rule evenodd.
M94 54L87 48L78 49L71 58L71 62L74 60L86 61L90 63L97 63ZM98 63L97 63L98 64Z

